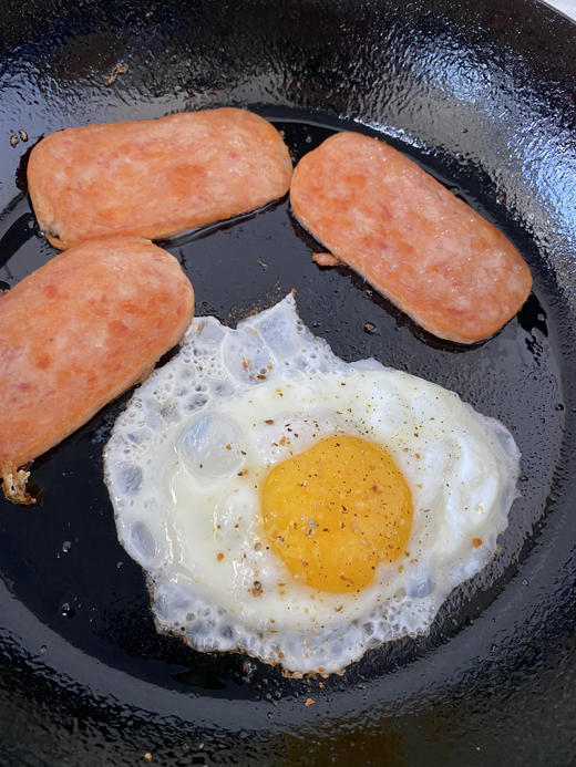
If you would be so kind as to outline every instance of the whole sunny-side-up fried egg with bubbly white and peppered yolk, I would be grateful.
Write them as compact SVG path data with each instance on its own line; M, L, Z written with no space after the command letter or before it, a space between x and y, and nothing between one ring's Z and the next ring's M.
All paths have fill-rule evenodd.
M343 362L292 294L236 330L195 319L104 459L157 629L292 674L428 631L494 556L520 469L505 426L428 381Z

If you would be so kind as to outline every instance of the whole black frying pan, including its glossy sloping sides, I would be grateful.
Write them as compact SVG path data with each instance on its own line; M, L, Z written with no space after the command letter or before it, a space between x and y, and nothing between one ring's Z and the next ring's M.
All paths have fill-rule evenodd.
M226 104L275 122L295 159L342 128L385 137L505 231L534 292L496 338L463 350L348 270L320 271L287 200L167 242L198 313L235 324L297 288L304 320L343 359L374 355L501 418L523 453L523 497L488 589L472 581L426 636L323 687L288 681L156 634L102 481L122 397L34 462L38 508L0 501L0 760L570 764L576 28L535 0L1 4L4 287L54 253L25 193L34 142ZM119 63L128 71L106 85Z

